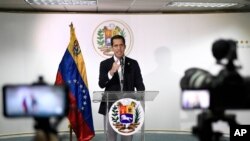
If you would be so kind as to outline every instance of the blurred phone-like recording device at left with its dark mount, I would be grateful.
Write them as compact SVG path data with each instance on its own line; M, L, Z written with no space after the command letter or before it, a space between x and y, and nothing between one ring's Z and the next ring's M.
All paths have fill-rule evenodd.
M7 118L32 117L34 141L58 141L57 126L68 115L68 87L48 85L39 77L33 84L3 86L3 113Z

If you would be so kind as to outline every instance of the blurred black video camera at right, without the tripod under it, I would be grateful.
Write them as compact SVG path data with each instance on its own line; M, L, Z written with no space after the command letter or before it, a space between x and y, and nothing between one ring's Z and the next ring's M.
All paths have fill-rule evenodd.
M213 43L212 53L223 69L217 76L206 70L190 68L180 81L183 109L250 109L250 77L238 73L237 42L220 39Z

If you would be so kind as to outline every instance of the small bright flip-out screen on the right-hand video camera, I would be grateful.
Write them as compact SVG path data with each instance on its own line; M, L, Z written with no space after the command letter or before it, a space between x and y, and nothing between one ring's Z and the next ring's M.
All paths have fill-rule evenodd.
M208 90L183 90L181 105L183 109L207 109L210 105Z

